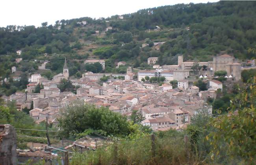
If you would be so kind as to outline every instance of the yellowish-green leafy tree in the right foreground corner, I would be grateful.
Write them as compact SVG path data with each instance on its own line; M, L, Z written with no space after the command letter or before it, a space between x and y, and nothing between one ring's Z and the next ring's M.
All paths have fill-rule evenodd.
M256 77L251 80L245 90L232 99L230 112L209 123L216 129L206 136L212 146L212 160L238 164L256 161Z

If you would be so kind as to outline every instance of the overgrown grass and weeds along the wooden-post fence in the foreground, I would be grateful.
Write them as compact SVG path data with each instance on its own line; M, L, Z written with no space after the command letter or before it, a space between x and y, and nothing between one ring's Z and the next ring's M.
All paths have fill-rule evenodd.
M199 162L196 158L187 158L182 133L170 130L155 134L154 142L150 136L142 136L125 141L117 140L95 151L76 153L70 164L111 164L114 162L116 164L178 165Z

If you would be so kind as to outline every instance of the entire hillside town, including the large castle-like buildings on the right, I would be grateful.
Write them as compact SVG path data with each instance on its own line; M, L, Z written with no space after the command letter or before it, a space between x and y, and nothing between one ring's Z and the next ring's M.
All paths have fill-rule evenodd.
M148 58L148 64L154 65L157 57ZM98 62L105 69L104 60L85 60L85 63ZM197 77L207 83L207 90L200 91L190 78L192 68L198 64L202 69ZM121 61L118 66L126 65ZM217 91L223 90L223 83L213 78L217 71L226 71L225 78L238 81L241 79L241 64L234 57L224 54L213 57L209 62L184 62L183 56L178 56L178 65L154 65L155 70L139 70L133 72L128 67L124 80L117 78L120 74L111 73L83 73L80 79L69 77L69 67L65 59L63 73L53 76L52 80L34 73L29 77L30 83L26 92L16 92L6 101L16 101L17 110L30 109L29 114L39 124L46 121L58 125L57 118L61 108L73 101L93 104L96 107L105 106L109 110L130 116L135 110L144 120L142 125L149 126L154 131L187 127L191 116L205 110L212 113L212 106L208 105L209 98L215 99ZM13 68L12 68L13 69ZM108 76L106 82L102 77ZM161 84L156 80L161 79ZM58 85L63 79L69 80L76 86L76 92L61 92ZM171 84L170 81L177 81ZM100 83L101 82L101 83ZM39 93L33 93L37 85L43 86ZM175 86L175 87L174 87Z

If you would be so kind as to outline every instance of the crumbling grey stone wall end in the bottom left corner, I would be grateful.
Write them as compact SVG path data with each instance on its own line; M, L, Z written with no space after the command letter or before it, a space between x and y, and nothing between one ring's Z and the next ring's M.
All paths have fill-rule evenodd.
M0 165L17 164L17 140L13 126L0 125Z

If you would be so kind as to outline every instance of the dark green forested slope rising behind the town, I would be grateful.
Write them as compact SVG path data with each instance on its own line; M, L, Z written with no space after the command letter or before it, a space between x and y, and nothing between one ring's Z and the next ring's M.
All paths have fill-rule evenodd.
M176 64L177 54L183 54L185 61L210 61L220 52L239 60L252 59L256 55L247 49L256 47L255 8L254 1L177 4L142 9L123 15L124 19L83 17L58 20L54 25L43 22L41 27L0 27L0 76L17 76L11 74L12 66L27 75L38 73L38 66L47 59L50 71L42 75L50 79L62 72L65 57L70 76L77 78L88 71L83 64L87 58L105 59L102 72L111 73L126 72L127 66L115 68L119 61L138 69L151 68L148 57L159 57L161 65ZM77 24L82 21L87 24ZM108 26L113 28L106 31ZM165 43L154 46L154 42ZM144 43L148 46L142 48ZM20 57L22 62L17 64L15 59Z

